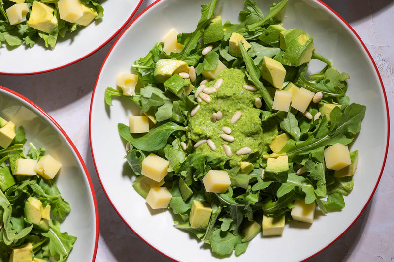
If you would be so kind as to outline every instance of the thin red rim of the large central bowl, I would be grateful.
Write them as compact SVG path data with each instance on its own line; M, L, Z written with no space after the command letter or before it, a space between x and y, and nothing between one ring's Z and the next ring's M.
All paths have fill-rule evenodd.
M106 57L105 57L105 59L104 59L102 65L101 65L101 68L100 68L98 77L97 77L97 79L96 79L95 87L94 87L94 89L93 89L92 100L91 100L91 104L90 104L90 113L89 113L89 140L90 140L90 145L92 145L92 140L91 140L91 136L90 136L90 134L91 134L91 124L90 124L90 123L91 123L91 117L92 117L93 98L94 98L94 95L95 95L95 92L96 92L97 82L98 82L98 80L99 80L99 76L100 76L100 74L101 74L101 70L102 70L102 68L103 68L103 66L104 66L104 64L105 64L105 62L106 62L106 60L108 59L108 56L109 56L110 53L112 52L112 49L115 47L115 45L116 45L117 42L120 40L120 38L122 37L122 35L131 27L131 25L132 25L140 16L142 16L146 11L148 11L150 8L152 8L154 5L156 5L156 4L157 4L158 2L160 2L160 1L162 1L162 0L156 0L155 2L153 2L152 4L150 4L148 7L146 7L142 12L140 12L140 13L131 21L131 23L130 23L130 24L123 30L123 32L118 36L118 38L116 39L115 43L112 45L111 49L108 51L108 54L106 55ZM319 253L322 252L323 250L326 250L331 244L333 244L333 243L334 243L336 240L338 240L344 233L346 233L346 232L353 226L353 224L359 219L359 217L361 216L362 212L365 210L366 206L369 204L370 200L372 199L372 197L373 197L373 195L374 195L374 193L375 193L375 191L376 191L376 188L377 188L377 186L378 186L378 184L379 184L380 178L382 177L383 170L384 170L384 167L385 167L385 164L386 164L387 152L388 152L388 149L389 149L389 134L390 134L389 106L388 106L388 102L387 102L386 91L385 91L385 87L384 87L384 85L383 85L383 81L382 81L382 78L381 78L381 76L380 76L380 73L379 73L379 70L378 70L378 68L377 68L377 66L376 66L375 61L373 60L371 54L369 53L368 49L366 48L364 42L361 40L360 36L359 36L359 35L357 34L357 32L350 26L350 24L347 23L347 22L345 21L344 18L342 18L337 12L335 12L331 7L329 7L326 3L322 2L321 0L314 0L314 1L319 2L320 4L324 5L333 15L337 16L337 17L339 18L339 20L341 20L342 23L344 23L345 26L348 27L348 29L350 29L350 30L352 31L352 33L354 34L354 36L356 36L356 38L358 39L359 43L360 43L360 44L362 45L362 47L364 48L364 50L365 50L365 52L367 53L367 55L368 55L370 61L372 62L373 66L374 66L374 68L375 68L376 74L377 74L377 76L378 76L378 78L379 78L379 81L380 81L380 85L381 85L381 88L382 88L382 91L383 91L383 97L384 97L384 101L385 101L385 106L386 106L386 113L387 113L387 141L386 141L385 156L384 156L384 159L383 159L383 164L382 164L382 168L381 168L381 170L380 170L379 178L378 178L378 180L377 180L377 182L376 182L376 185L375 185L375 187L374 187L374 189L373 189L373 191L372 191L372 193L371 193L371 196L369 197L368 201L365 203L365 205L364 205L364 207L362 208L361 212L357 215L356 219L349 225L349 227L346 228L346 230L344 230L340 235L338 235L332 242L330 242L326 247L324 247L324 248L322 248L321 250L317 251L317 252L314 253L313 255L307 257L307 258L304 259L303 261L306 261L306 260L308 260L308 259L310 259L310 258L316 256L317 254L319 254ZM116 213L119 215L119 217L120 217L120 218L123 220L123 222L131 229L131 231L134 232L134 233L135 233L141 240L143 240L146 244L148 244L150 247L152 247L154 250L156 250L157 252L161 253L161 254L164 255L165 257L167 257L167 258L169 258L169 259L172 259L172 260L176 261L174 258L171 258L170 256L164 254L163 252L161 252L160 250L158 250L157 248L155 248L154 246L152 246L150 243L148 243L144 238L142 238L139 234L137 234L137 233L132 229L132 227L126 222L125 218L122 217L122 215L121 215L121 214L119 213L119 211L116 209L115 205L112 203L111 199L109 198L109 196L108 196L108 194L107 194L107 192L106 192L106 190L105 190L105 188L104 188L104 185L103 185L102 182L101 182L101 178L100 178L99 172L98 172L98 170L97 170L96 161L95 161L95 157L94 157L94 152L93 152L92 146L90 146L90 149L91 149L91 152L92 152L93 163L94 163L94 165L95 165L96 173L97 173L97 176L98 176L98 178L99 178L101 187L102 187L102 189L103 189L105 195L107 196L108 201L111 203L112 207L115 209L115 211L116 211Z

